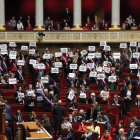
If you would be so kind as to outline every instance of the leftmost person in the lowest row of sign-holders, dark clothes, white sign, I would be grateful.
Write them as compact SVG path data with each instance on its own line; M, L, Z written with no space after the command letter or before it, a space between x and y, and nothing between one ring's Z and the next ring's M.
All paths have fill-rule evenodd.
M24 103L24 100L23 100L24 93L22 95L20 95L20 93L23 93L21 87L18 88L17 92L15 93L15 97L14 98L16 100L16 103L22 104L22 103Z

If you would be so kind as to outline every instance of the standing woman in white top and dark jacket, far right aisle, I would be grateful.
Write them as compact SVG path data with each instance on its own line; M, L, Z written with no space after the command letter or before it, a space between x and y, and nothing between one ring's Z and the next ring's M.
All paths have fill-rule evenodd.
M133 98L133 90L132 90L132 85L128 85L128 90L124 92L123 97L124 97L124 113L127 115L127 112L130 110L130 106L132 104L132 98Z

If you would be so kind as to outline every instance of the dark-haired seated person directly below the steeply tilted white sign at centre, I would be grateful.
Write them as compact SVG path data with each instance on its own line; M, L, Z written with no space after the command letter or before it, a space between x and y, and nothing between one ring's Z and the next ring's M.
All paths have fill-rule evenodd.
M69 111L78 111L79 103L77 102L77 98L74 98L72 102L70 102L68 106Z

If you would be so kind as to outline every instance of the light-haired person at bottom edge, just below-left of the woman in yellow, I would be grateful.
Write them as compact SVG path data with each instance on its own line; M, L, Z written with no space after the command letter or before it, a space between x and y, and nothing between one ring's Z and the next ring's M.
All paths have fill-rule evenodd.
M82 140L93 140L92 128L90 126L87 127L86 132L81 136Z

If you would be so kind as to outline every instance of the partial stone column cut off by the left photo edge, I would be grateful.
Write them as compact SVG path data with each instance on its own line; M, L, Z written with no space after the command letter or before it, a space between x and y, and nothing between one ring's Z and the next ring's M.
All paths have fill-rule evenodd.
M5 30L5 0L0 0L0 30Z

